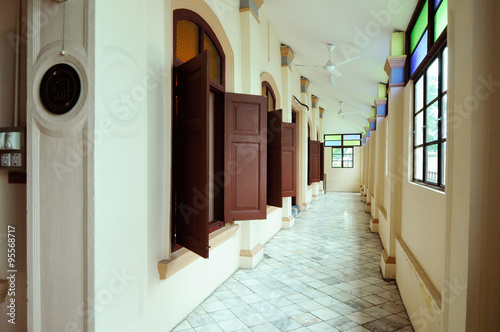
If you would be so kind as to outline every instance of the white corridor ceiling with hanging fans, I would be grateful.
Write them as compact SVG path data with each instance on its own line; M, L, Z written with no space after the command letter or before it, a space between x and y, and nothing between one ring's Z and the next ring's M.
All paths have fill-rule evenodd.
M388 80L384 64L390 36L406 30L416 4L417 0L264 1L261 10L281 43L292 49L293 64L323 66L327 44L336 45L334 64L359 56L337 68L343 76L335 77L336 87L323 68L296 67L326 110L325 133L361 132L366 126L378 84ZM344 118L336 115L339 101Z

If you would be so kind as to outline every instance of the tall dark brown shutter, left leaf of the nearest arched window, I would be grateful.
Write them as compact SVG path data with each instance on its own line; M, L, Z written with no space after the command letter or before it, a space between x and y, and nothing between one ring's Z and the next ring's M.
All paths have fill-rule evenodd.
M176 68L176 242L208 258L208 51Z

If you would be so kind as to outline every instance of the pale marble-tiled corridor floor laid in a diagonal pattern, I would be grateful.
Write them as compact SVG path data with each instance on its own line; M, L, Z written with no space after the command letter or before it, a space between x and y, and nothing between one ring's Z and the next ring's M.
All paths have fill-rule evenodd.
M321 196L174 331L413 331L369 218L359 194Z

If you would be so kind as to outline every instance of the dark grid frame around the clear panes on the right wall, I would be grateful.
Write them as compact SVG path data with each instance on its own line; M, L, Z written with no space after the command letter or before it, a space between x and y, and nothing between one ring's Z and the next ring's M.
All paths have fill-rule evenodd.
M429 62L426 63L424 70L422 73L416 77L416 80L414 81L415 83L413 84L413 106L412 106L412 114L413 114L413 123L412 123L412 156L413 156L413 161L412 161L412 182L423 184L429 187L432 187L434 189L438 190L445 190L445 183L446 183L446 178L445 174L443 174L443 157L446 158L446 156L443 156L443 145L446 144L447 142L447 137L446 135L445 138L443 138L443 99L448 97L448 90L443 91L443 76L444 76L444 65L443 65L443 54L444 51L448 48L446 44L442 45L440 49L436 51L436 54L434 54L434 57L430 58ZM435 63L435 61L439 61L439 74L438 74L438 95L431 101L427 101L427 72L429 68ZM417 110L417 83L420 82L420 80L423 80L423 107L421 110ZM447 79L447 78L446 78ZM427 142L427 110L433 106L435 103L438 105L438 114L437 114L437 139L432 140ZM447 114L447 109L445 110ZM416 119L417 116L422 114L422 127L420 128L422 130L422 143L417 145L417 135L416 135ZM432 146L432 145L437 145L437 180L436 183L431 182L426 180L426 175L428 173L427 167L427 158L426 158L426 151L427 147ZM422 148L422 180L415 178L415 161L416 161L416 150Z

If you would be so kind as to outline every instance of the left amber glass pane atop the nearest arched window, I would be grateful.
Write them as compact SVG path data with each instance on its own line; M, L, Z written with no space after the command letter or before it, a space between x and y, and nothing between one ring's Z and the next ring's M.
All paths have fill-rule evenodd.
M200 28L196 23L187 20L177 21L176 57L187 62L200 53Z

